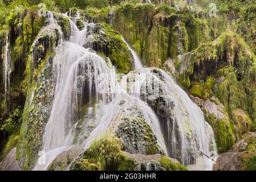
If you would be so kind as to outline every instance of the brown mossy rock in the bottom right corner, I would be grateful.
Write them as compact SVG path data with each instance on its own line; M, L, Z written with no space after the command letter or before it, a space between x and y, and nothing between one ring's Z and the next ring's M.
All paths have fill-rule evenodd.
M218 156L215 171L256 171L256 133L246 135L232 150Z

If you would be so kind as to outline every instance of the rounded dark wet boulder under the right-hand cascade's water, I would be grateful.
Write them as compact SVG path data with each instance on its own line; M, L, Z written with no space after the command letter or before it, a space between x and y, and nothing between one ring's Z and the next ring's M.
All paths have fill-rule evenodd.
M164 72L158 68L133 71L127 76L127 82L128 92L133 93L135 91L139 93L141 99L147 102L155 111L159 121L162 121L160 122L160 127L163 131L169 155L172 158L183 161L185 165L194 163L200 154L199 140L193 134L193 127L187 108L181 103L179 96L175 94L176 90L172 90L175 88L168 88L173 85L168 85L169 80L167 80ZM133 90L134 87L139 89ZM181 118L178 118L177 121L175 121L175 100L180 101L179 112ZM183 124L178 124L181 122ZM181 130L183 133L180 132ZM187 142L185 148L183 148L184 143L182 143L181 139L183 134Z

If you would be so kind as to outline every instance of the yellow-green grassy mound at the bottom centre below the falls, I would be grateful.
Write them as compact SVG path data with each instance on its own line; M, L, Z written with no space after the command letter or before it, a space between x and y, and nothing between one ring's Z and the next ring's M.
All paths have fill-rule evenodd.
M121 151L121 140L112 133L107 133L105 137L96 140L85 151L84 156L77 160L72 170L133 170L135 162L127 159Z

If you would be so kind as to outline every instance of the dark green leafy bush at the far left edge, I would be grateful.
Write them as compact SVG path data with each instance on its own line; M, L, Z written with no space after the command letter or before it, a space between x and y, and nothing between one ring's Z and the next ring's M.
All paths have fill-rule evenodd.
M9 134L19 131L20 125L22 124L22 113L21 106L14 109L10 117L2 123L1 130L7 131Z

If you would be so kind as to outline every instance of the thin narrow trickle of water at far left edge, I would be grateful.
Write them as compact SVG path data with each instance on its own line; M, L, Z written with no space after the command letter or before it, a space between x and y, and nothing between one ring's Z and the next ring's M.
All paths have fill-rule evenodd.
M6 37L5 55L3 58L3 80L5 84L5 113L9 112L10 100L10 75L11 75L11 60L10 60L10 47L9 35Z

